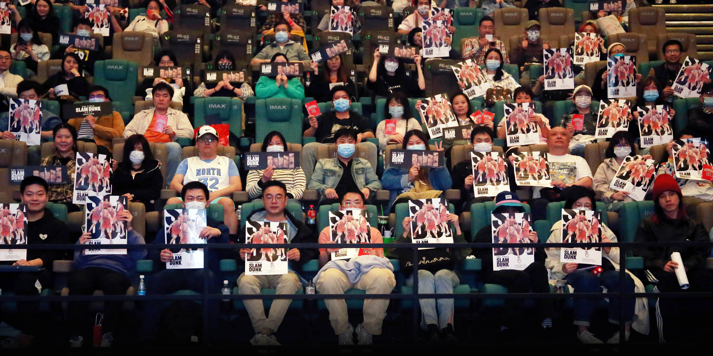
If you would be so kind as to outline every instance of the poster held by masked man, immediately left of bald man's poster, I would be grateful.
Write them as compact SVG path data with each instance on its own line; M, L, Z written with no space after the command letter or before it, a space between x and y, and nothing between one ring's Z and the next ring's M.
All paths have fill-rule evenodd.
M476 197L495 197L510 189L508 164L498 152L471 152L473 192Z

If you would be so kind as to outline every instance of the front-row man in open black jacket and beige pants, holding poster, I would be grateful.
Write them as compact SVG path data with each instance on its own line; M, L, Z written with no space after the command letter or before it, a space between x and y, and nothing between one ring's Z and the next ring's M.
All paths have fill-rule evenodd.
M287 224L285 239L287 244L316 244L317 235L309 229L302 220L295 218L289 211L285 210L287 206L287 188L279 181L271 180L265 183L262 188L262 202L265 204L265 209L253 211L250 216L247 216L247 221L273 221L284 222ZM239 242L245 243L245 229L240 231ZM246 255L251 253L251 248L241 248L240 258L245 261ZM311 260L316 256L316 251L312 248L290 248L287 251L288 272L287 274L275 274L268 276L247 276L242 273L237 278L237 288L240 294L260 294L262 288L275 288L277 294L294 294L302 288L302 283L299 281L297 273L301 271L302 264ZM275 299L270 306L270 317L265 317L265 308L262 306L261 299L245 299L242 302L245 304L247 315L250 316L252 328L255 330L255 336L252 337L250 343L252 345L280 345L277 342L275 335L277 328L282 323L284 313L287 312L290 299Z

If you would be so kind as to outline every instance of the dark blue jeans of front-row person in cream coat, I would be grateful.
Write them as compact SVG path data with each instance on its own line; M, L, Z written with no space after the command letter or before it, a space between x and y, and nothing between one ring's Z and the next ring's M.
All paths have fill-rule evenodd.
M589 270L574 271L568 274L567 284L575 288L575 293L599 293L602 287L607 288L607 293L618 293L619 271L606 271L598 277ZM634 292L634 280L628 274L625 274L623 287L624 293ZM574 298L575 325L590 325L599 300L600 298ZM624 308L624 322L630 324L634 319L635 304L635 298L609 298L610 323L619 324L620 308Z

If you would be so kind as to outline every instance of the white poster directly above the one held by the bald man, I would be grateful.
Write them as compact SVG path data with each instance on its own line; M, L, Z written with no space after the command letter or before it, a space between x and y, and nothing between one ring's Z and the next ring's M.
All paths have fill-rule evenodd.
M534 103L505 103L503 110L508 147L540 143L540 127L530 121L530 117L535 115Z

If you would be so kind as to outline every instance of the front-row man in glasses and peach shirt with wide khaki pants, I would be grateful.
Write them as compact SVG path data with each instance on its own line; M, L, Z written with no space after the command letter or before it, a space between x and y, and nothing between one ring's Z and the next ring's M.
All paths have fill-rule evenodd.
M364 200L362 192L357 189L349 190L342 196L339 210L364 209ZM334 241L329 239L331 234L329 226L324 227L319 233L319 244L334 244ZM370 234L372 243L384 242L381 233L374 226L371 226ZM331 253L336 251L339 251L339 248L319 248L319 266L327 264ZM359 256L350 261L330 263L334 263L334 266L328 266L318 274L315 287L319 293L344 294L349 288L357 288L366 290L367 294L389 294L396 286L394 267L384 257L383 248L363 248ZM344 273L345 270L349 271L349 276ZM349 324L347 303L344 299L325 299L324 304L329 310L329 322L334 333L339 335L339 345L354 345L355 331L359 345L371 345L373 335L381 335L381 323L386 317L389 299L364 299L364 323L356 325L356 330Z

